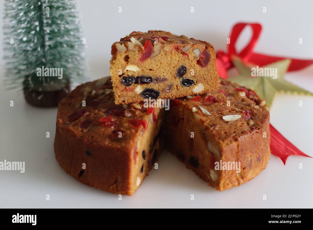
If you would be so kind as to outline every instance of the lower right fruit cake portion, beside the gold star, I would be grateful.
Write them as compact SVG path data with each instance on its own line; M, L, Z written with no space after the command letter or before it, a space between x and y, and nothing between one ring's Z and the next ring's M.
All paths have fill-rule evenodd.
M167 148L217 190L239 186L266 167L269 111L253 90L220 79L216 91L174 99L167 112ZM236 164L239 170L231 170Z

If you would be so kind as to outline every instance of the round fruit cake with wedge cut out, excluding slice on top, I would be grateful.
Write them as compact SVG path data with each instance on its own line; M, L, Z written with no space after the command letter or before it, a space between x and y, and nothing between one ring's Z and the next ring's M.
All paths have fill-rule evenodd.
M267 166L269 111L253 90L224 79L212 93L171 100L168 111L144 102L115 105L108 78L78 86L59 103L56 159L89 186L132 195L165 139L187 168L222 191Z

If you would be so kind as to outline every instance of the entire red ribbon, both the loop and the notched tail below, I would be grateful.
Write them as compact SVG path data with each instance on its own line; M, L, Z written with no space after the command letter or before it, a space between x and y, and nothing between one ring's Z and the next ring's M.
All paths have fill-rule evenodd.
M237 53L235 44L237 39L246 26L252 28L252 38L246 47ZM233 67L233 57L237 56L242 59L244 63L254 63L259 66L267 65L282 59L290 59L288 71L295 71L303 69L310 64L313 64L313 60L300 60L291 59L286 57L273 57L264 54L253 53L254 46L256 45L259 35L261 33L262 26L259 23L237 23L233 26L232 32L230 33L230 44L227 46L227 53L219 50L216 54L216 64L218 69L218 75L222 78L227 79L227 70ZM280 159L286 163L287 157L290 155L307 156L305 153L300 151L297 147L290 143L283 135L281 135L272 125L270 125L271 140L270 149L272 154L280 157Z

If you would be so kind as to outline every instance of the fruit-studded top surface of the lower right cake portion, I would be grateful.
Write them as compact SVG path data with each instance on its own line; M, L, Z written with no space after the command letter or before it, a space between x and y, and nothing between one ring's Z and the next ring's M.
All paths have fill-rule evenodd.
M216 91L174 99L171 106L181 104L221 143L237 141L269 121L265 101L255 91L224 79Z

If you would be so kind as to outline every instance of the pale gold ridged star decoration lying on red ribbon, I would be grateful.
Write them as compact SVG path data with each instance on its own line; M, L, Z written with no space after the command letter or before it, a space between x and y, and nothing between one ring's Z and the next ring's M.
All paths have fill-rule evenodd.
M290 59L284 59L259 67L254 64L244 64L241 59L235 57L233 64L238 69L239 75L230 80L253 89L266 101L269 108L277 93L312 96L309 91L284 80L290 62Z

